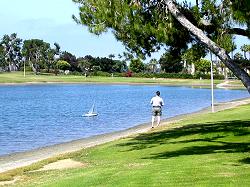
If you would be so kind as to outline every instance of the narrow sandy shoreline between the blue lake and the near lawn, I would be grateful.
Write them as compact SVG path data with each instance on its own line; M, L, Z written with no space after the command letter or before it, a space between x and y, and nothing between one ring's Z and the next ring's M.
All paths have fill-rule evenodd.
M217 103L215 104L215 112L229 109L229 108L234 108L236 106L240 106L244 104L250 104L250 98L233 100L233 101L225 102L225 103ZM168 118L166 120L163 120L161 125L167 125L169 123L181 120L187 116L192 116L192 115L202 114L202 113L209 113L210 111L211 111L211 107L207 107L205 109L202 109L194 113L183 114L183 115L179 115L176 117ZM34 149L31 151L27 151L27 152L14 153L10 155L0 156L0 173L11 170L11 169L15 169L18 167L27 166L32 163L35 163L35 162L38 162L47 158L51 158L60 154L70 153L70 152L81 150L83 148L93 147L96 145L100 145L103 143L107 143L113 140L131 136L131 135L144 133L144 132L151 130L150 127L151 127L150 123L145 123L145 124L137 125L135 127L122 130L122 131L96 135L96 136L92 136L89 138L83 138L83 139L74 140L71 142L42 147L42 148Z

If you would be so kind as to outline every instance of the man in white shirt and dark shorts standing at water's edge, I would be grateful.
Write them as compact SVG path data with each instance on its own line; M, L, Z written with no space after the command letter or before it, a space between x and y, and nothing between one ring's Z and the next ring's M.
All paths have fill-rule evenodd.
M152 128L154 128L155 117L157 117L157 127L160 125L161 121L162 106L164 105L164 102L160 97L160 94L160 91L157 91L156 96L150 101L150 104L152 105Z

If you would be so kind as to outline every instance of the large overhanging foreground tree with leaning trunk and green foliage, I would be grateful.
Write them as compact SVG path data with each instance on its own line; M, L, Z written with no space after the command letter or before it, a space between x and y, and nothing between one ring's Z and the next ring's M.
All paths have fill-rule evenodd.
M250 92L250 77L227 51L216 43L222 33L250 37L248 0L200 0L197 5L174 0L73 0L90 32L112 29L126 48L137 54L157 51L161 46L187 48L192 41L203 43L243 82ZM238 5L241 6L238 6ZM235 27L245 24L247 29Z

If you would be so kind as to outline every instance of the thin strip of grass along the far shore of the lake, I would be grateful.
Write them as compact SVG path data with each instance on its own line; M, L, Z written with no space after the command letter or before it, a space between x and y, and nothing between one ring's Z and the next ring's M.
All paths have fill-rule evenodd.
M32 72L0 73L0 83L27 83L27 82L61 82L61 83L145 83L145 84L167 84L167 85L210 85L210 80L198 79L152 79L152 78L135 78L135 77L87 77L76 75L58 75L42 74L34 75ZM215 80L219 84L223 80ZM242 85L241 82L235 81L235 84Z

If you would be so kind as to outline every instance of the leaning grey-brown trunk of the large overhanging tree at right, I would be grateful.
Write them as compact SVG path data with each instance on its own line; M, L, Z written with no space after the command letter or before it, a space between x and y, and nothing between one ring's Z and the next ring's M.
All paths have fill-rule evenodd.
M238 77L244 86L250 93L250 77L249 75L241 69L226 53L226 51L219 47L215 42L208 38L202 30L194 26L187 18L177 9L172 0L165 0L166 11L169 11L187 30L189 30L194 36L196 36L201 42L203 42L208 49L210 49L214 54L216 54L220 60Z

